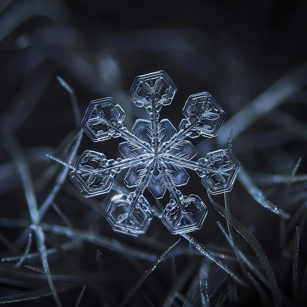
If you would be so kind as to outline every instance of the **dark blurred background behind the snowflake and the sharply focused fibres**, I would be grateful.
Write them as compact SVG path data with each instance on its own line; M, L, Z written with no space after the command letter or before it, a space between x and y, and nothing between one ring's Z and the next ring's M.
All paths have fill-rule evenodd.
M77 113L82 118L90 101L113 97L125 110L124 124L130 129L136 119L148 119L128 98L134 78L164 70L178 90L160 119L178 127L188 96L203 91L226 112L215 139L192 140L198 150L195 159L227 148L233 129L232 152L242 171L229 193L230 212L262 246L282 304L305 306L306 14L303 0L1 0L0 301L55 306L35 254L34 232L29 240L33 222L25 191L32 189L39 208L52 198L42 223L52 280L63 306L77 306L84 285L79 306L273 305L263 263L233 230L235 246L264 276L249 278L250 267L237 260L235 248L216 224L221 221L227 229L226 221L210 204L195 173L189 172L190 181L180 190L199 195L209 212L202 230L192 236L224 259L245 286L183 238L139 281L179 237L157 217L145 235L114 232L103 216L111 194L83 199L66 180L68 171L46 156L70 165L84 150L119 157L121 140L94 144L86 135L71 154L79 129ZM78 111L58 76L74 90ZM116 181L123 184L124 176L117 175ZM153 207L168 202L168 196L159 202L148 197ZM224 206L223 195L214 199ZM263 207L272 204L289 218ZM63 233L55 226L65 228ZM75 231L70 237L69 230Z

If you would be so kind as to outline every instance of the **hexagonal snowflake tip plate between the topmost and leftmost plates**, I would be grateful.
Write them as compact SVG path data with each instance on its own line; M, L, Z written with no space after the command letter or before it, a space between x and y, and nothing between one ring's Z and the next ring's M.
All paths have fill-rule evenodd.
M104 141L111 137L118 137L114 127L123 127L124 110L111 97L92 101L83 117L81 127L94 141Z

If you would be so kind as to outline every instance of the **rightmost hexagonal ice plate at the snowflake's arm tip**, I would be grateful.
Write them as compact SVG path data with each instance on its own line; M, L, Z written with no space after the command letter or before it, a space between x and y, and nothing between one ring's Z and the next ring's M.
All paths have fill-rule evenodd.
M202 167L197 174L202 177L202 183L211 194L230 192L240 163L227 149L207 153L205 158L198 160Z

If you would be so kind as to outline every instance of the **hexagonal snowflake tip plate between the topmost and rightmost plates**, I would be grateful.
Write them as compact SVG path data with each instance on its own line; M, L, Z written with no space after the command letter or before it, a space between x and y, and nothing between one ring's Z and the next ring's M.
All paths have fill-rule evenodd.
M206 137L217 136L225 120L225 112L207 92L191 95L185 102L182 113L187 120L181 121L180 129L186 129L195 123L189 135L191 138L200 134Z

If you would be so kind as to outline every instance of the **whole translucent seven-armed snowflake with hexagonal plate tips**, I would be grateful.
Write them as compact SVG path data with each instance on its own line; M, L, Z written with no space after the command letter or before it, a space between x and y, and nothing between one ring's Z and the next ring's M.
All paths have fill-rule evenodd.
M162 213L162 223L174 234L199 230L207 208L196 195L183 196L176 188L185 185L194 170L211 194L229 192L240 164L225 149L208 153L198 162L192 160L197 151L187 137L216 136L224 122L225 113L209 93L191 95L182 110L177 130L168 119L159 121L159 111L170 104L176 85L163 71L138 76L129 97L139 107L145 107L150 120L136 120L131 132L123 126L124 110L110 97L92 101L81 122L85 133L94 141L122 137L118 149L124 158L106 159L103 153L85 151L70 173L70 179L85 196L108 193L114 175L128 169L124 179L134 192L112 197L105 217L116 231L130 235L145 233L152 220L149 202L143 196L147 188L158 199L166 190L170 202Z

